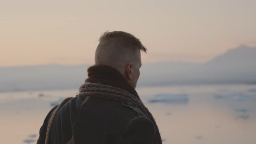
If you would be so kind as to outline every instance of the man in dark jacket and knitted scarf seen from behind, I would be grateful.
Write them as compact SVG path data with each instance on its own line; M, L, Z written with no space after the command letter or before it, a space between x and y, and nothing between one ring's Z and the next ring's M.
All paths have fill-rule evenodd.
M135 91L141 51L147 49L129 33L104 33L79 95L49 112L37 144L162 144Z

